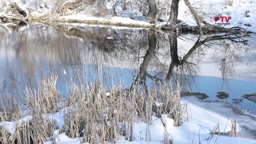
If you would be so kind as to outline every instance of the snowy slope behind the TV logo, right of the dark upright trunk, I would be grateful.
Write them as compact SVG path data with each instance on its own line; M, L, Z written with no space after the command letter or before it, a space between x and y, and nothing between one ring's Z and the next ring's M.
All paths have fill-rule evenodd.
M215 16L231 16L230 24L225 27L233 27L238 25L238 23L243 23L243 28L248 28L247 26L243 26L244 23L250 23L252 26L255 26L256 18L254 17L254 13L256 12L256 2L250 0L236 0L233 1L232 6L228 6L223 0L190 0L190 3L193 4L194 7L199 7L199 11L201 14L204 13L204 20L210 24L214 24ZM250 17L245 16L246 10L250 10ZM185 2L183 0L179 3L179 12L178 19L186 22L186 24L191 26L196 26L196 22L193 20L192 15L190 14Z

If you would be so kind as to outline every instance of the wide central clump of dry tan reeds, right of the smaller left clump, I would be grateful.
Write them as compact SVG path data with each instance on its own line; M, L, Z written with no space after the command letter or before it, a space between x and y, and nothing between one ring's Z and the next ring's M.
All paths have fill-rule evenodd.
M72 86L71 89L67 106L75 107L76 110L69 109L65 113L65 124L61 132L71 138L82 136L82 142L116 143L119 135L133 141L134 122L142 118L151 125L154 111L159 117L168 113L174 118L175 126L181 125L179 91L172 91L168 85L161 86L160 91L149 89L148 94L137 86L132 91L115 86L108 96L102 83L88 84L86 90L82 86ZM152 108L154 101L165 103L159 110Z

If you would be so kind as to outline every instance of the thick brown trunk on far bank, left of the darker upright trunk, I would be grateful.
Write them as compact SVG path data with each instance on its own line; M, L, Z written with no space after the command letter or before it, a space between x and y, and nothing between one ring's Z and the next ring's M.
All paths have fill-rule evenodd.
M157 7L155 0L147 0L149 4L149 13L148 13L148 22L149 23L155 23L156 20L156 14L157 14Z

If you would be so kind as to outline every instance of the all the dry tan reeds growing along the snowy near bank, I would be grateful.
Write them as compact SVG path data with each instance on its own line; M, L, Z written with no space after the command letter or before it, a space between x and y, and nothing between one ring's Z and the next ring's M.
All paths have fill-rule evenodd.
M151 116L161 117L168 114L174 119L174 126L181 125L180 88L171 85L161 85L146 91L134 85L132 90L122 86L114 86L110 95L106 95L103 82L77 86L72 84L71 94L62 100L56 89L57 76L42 80L36 92L26 89L25 101L30 109L32 120L16 126L12 135L12 143L41 144L49 137L55 141L53 132L59 129L56 120L47 113L56 113L64 109L64 126L60 133L66 133L70 138L82 137L81 143L117 143L119 135L127 140L134 140L134 123L143 119L147 123L147 140L151 140L149 126ZM162 103L156 106L155 103ZM16 104L18 105L18 104ZM7 112L6 112L7 111ZM5 113L7 116L5 116ZM6 108L1 114L1 121L12 121L22 117L21 112ZM1 141L9 143L10 133L0 128ZM167 139L167 136L166 136Z

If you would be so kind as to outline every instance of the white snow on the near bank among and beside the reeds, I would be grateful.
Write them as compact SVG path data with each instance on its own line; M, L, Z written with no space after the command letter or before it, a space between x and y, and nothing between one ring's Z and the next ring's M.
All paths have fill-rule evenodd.
M182 103L186 103L188 105L189 112L188 115L183 115L182 126L174 127L173 119L165 117L164 115L162 115L161 118L156 118L153 116L153 123L149 126L149 132L151 135L150 142L146 140L146 123L135 122L134 142L129 142L128 140L125 140L123 136L120 136L118 143L162 144L166 130L169 137L172 138L174 144L256 144L256 140L241 138L240 136L238 138L223 136L223 132L229 132L231 130L231 122L228 117L224 117L218 113L208 111L185 100L183 100ZM48 114L50 118L56 119L59 128L62 128L64 124L65 109L55 114ZM23 122L27 122L32 118L32 116L26 116L17 122L1 122L0 126L5 127L10 133L14 133L14 127L17 124L22 124ZM166 125L166 129L163 123ZM217 124L219 124L221 135L214 135L211 138L209 133L212 132ZM57 144L80 144L81 140L81 138L69 138L65 133L59 133L58 130L55 130L54 137L56 138ZM45 144L52 144L52 141L48 141Z

